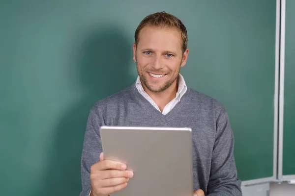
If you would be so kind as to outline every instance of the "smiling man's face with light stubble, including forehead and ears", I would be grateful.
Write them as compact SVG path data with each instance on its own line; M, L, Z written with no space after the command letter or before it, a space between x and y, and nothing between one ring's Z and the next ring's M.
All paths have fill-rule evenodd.
M140 79L154 93L176 84L187 55L188 49L182 52L182 40L176 28L145 26L139 33L137 47L133 45L133 60Z

